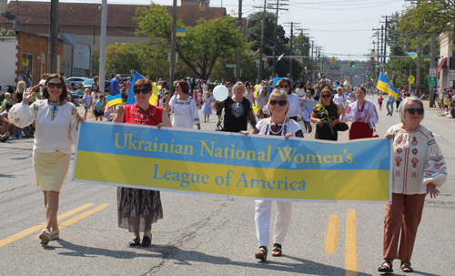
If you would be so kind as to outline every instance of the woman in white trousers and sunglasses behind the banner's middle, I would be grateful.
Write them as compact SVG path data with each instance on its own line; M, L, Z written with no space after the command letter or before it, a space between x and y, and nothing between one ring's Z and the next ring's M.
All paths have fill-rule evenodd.
M290 137L303 138L300 125L287 116L288 107L288 93L283 90L274 89L268 101L268 110L271 113L271 117L261 119L256 125L256 128L254 128L253 134L282 136L285 139ZM241 131L241 133L248 136L248 131ZM267 261L271 209L271 200L256 200L255 221L256 235L259 243L256 258L261 261ZM277 219L275 220L273 231L272 256L278 257L282 254L281 244L289 229L291 209L291 202L277 201Z

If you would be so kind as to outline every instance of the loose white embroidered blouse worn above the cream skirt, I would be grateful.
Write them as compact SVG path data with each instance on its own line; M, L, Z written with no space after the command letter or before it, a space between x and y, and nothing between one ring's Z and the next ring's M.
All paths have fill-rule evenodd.
M71 146L77 140L76 114L72 103L54 107L48 105L47 100L38 100L31 106L15 104L9 110L8 118L18 128L25 128L36 121L34 151L71 154Z

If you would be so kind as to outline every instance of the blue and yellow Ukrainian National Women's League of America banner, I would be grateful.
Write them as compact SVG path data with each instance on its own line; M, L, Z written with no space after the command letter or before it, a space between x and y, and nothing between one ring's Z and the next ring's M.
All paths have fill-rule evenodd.
M73 180L291 201L389 203L391 143L80 124Z

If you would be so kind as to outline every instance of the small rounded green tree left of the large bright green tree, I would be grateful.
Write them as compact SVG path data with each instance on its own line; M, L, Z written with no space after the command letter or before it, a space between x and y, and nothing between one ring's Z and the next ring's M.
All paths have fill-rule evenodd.
M106 72L128 74L132 69L142 72L143 61L136 45L129 43L106 46Z

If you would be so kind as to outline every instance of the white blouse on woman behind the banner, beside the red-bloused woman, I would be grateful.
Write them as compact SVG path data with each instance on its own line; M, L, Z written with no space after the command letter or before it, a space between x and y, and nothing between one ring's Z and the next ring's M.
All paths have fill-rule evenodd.
M169 107L174 114L172 128L193 128L193 125L200 124L194 97L181 100L175 95L169 100Z

